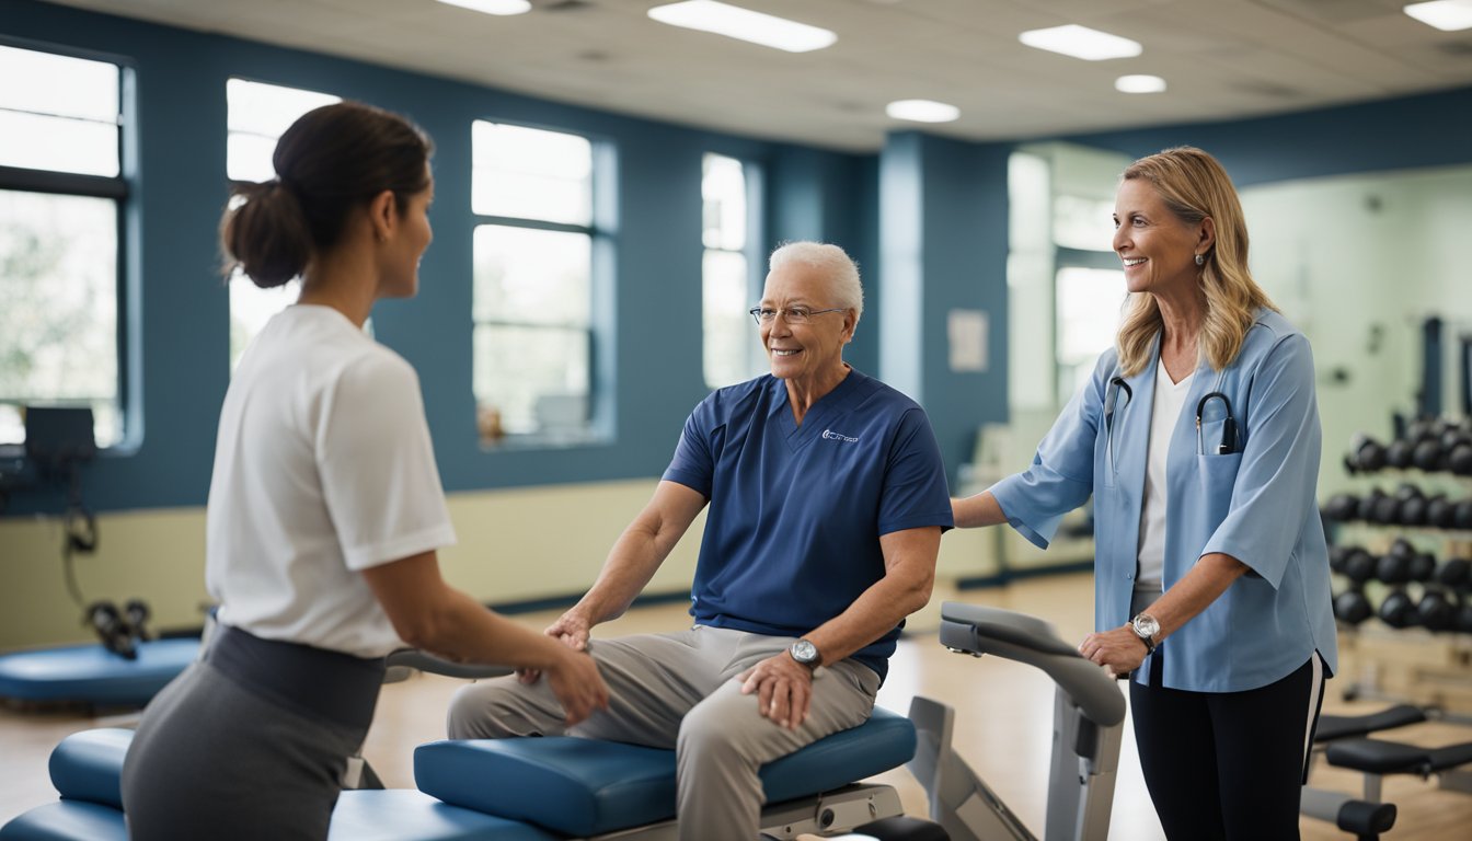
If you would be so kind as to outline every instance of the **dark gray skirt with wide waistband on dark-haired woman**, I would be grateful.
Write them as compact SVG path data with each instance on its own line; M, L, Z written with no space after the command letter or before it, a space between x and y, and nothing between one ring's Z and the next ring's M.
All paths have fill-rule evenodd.
M327 838L381 682L383 660L221 627L143 713L122 766L130 837Z

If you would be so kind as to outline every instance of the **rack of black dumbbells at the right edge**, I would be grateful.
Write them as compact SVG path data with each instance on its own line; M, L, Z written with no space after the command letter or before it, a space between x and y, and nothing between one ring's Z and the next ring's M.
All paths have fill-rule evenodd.
M1359 670L1342 692L1472 713L1472 421L1407 433L1387 448L1357 439L1345 467L1362 493L1326 505L1340 639ZM1404 680L1387 691L1395 672Z

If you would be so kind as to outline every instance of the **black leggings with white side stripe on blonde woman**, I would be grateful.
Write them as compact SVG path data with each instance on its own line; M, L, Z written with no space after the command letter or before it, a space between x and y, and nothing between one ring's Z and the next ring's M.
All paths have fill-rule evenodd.
M1298 838L1322 673L1314 654L1282 680L1245 692L1166 689L1158 673L1154 686L1130 682L1139 764L1167 838Z

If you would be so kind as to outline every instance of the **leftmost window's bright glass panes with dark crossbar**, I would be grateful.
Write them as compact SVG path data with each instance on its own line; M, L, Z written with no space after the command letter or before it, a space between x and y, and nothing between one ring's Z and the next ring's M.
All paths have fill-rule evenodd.
M90 407L124 439L124 69L0 46L0 443L21 407Z

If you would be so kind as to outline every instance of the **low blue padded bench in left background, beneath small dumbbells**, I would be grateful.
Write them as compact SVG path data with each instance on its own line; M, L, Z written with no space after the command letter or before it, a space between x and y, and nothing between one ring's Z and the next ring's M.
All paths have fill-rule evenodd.
M137 650L137 660L100 642L0 655L0 698L141 707L199 657L199 639L155 639Z

